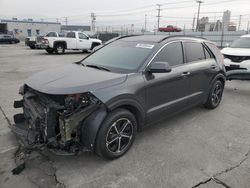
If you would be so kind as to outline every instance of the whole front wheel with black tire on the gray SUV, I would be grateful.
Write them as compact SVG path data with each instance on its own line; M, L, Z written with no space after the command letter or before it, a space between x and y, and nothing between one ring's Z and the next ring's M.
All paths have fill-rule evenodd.
M126 109L111 112L96 139L95 152L105 159L117 159L132 146L137 130L134 115Z

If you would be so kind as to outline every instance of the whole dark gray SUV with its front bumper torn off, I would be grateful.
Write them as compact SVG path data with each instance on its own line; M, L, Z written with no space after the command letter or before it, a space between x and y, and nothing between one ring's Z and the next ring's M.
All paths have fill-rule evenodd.
M223 56L207 40L119 37L80 62L30 77L12 129L33 147L115 159L146 126L197 105L216 108L224 84Z

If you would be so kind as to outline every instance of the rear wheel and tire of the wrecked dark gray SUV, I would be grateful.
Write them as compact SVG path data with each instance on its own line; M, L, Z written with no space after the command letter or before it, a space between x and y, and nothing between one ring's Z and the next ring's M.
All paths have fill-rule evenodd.
M205 108L215 109L219 106L224 90L224 84L220 80L216 80L209 92L208 99L204 104Z

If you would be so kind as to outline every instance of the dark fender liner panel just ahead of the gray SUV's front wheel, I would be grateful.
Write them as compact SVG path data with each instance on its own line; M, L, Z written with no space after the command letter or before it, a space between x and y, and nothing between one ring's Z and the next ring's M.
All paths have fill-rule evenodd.
M107 108L103 104L83 121L81 126L81 143L86 149L94 151L97 133L107 114Z

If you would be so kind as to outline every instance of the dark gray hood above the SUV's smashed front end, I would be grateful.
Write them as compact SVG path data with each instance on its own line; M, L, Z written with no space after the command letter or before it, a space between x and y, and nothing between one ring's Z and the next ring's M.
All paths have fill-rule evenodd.
M25 84L42 93L65 95L93 92L121 84L126 79L126 74L71 64L34 74Z

